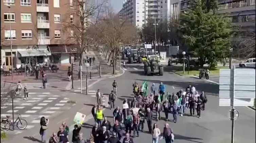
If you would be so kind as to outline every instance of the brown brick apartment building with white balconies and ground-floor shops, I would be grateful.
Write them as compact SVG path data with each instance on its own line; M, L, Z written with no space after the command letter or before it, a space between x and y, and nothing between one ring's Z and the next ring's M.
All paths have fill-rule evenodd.
M76 22L77 6L73 0L1 0L1 65L11 67L11 54L17 68L28 57L34 63L74 61L73 31L63 31L62 23Z

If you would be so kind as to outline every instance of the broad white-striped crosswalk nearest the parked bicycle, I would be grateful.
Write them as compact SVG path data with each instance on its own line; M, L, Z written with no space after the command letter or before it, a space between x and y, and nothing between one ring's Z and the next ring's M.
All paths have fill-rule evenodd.
M19 113L23 119L28 121L28 126L25 130L29 130L40 122L42 116L50 118L54 114L56 115L57 113L62 113L70 109L72 105L67 104L68 101L69 98L63 98L59 95L51 94L50 92L31 92L29 93L28 99L15 98L13 100L14 110L12 110L12 100L1 103L1 118L6 116L12 118L12 112ZM16 116L15 114L14 118L16 118ZM10 134L17 135L23 131L15 130Z

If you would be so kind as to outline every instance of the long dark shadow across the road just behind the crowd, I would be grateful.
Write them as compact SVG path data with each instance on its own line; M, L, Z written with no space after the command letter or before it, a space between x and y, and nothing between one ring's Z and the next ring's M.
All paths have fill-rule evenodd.
M145 79L136 79L140 81L145 81ZM214 96L218 96L219 94L219 85L216 85L214 83L202 83L202 82L181 82L181 81L160 81L160 80L147 80L151 83L160 83L163 82L165 85L169 86L175 86L175 87L181 87L183 90L187 88L188 85L195 86L197 91L201 92L204 91L206 93L209 93ZM167 89L168 90L168 89ZM177 92L180 89L177 89Z

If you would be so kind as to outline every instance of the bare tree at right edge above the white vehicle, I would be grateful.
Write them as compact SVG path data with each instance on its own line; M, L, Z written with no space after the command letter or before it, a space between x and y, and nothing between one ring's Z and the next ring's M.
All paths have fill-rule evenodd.
M233 44L239 56L245 58L255 57L255 31L246 31L235 37Z

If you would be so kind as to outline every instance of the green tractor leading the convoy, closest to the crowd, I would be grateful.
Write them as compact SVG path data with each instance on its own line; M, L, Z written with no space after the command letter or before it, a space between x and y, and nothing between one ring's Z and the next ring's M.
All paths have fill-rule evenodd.
M148 59L144 61L144 74L146 76L158 74L163 76L164 67L160 64L158 55L149 55ZM158 70L158 73L155 71Z

